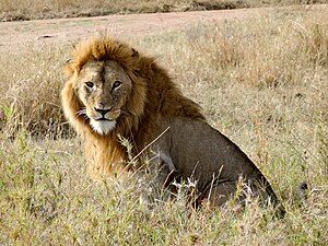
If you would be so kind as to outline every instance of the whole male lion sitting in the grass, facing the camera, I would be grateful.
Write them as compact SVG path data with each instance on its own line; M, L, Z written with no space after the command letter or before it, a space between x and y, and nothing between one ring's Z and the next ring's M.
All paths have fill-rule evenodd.
M277 204L261 172L207 124L200 107L181 94L154 58L108 35L81 42L72 56L66 66L69 80L62 106L84 139L93 171L109 174L144 167L156 171L156 183L163 186L192 178L199 191L196 202L207 199L213 206L235 195L242 177L253 195ZM131 143L130 151L122 138ZM131 154L147 155L150 164L132 165Z

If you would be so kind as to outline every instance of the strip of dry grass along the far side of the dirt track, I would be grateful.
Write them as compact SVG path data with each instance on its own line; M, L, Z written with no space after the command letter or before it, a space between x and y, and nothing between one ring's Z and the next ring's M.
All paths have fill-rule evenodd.
M0 21L327 3L327 0L0 0Z

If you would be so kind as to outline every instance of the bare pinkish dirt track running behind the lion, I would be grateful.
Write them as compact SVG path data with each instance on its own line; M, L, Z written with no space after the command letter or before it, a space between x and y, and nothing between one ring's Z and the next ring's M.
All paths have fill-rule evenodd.
M97 31L117 36L168 32L197 22L232 20L265 14L272 9L239 9L155 14L108 15L98 17L52 19L0 23L0 54L22 51L48 43L74 42Z

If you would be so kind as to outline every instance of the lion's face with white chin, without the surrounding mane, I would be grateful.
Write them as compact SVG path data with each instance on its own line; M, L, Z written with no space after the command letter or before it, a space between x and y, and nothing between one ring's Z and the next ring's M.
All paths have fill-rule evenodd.
M89 61L75 82L75 92L84 106L78 114L90 119L94 131L107 134L125 113L132 89L129 75L116 61Z

